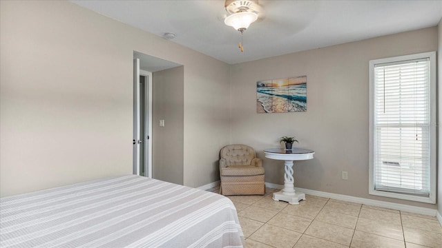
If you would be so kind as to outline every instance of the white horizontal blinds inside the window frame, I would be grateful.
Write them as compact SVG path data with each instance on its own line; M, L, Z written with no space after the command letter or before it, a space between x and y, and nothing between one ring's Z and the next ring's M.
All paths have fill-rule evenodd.
M374 189L430 194L430 59L374 64Z

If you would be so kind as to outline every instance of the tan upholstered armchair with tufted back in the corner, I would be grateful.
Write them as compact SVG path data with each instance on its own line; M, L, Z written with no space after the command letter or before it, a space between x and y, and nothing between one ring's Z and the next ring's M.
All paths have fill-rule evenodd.
M265 194L262 159L248 145L227 145L220 152L220 194Z

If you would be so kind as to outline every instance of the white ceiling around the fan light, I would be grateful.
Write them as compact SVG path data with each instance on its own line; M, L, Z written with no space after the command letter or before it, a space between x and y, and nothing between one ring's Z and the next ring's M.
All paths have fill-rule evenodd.
M264 19L244 32L224 25L224 0L71 0L123 23L162 36L227 63L359 41L437 25L437 1L264 1Z

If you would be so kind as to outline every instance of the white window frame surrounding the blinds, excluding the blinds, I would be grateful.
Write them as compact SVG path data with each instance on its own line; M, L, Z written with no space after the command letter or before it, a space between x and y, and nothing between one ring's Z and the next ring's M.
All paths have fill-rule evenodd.
M430 59L430 194L429 196L416 196L397 192L387 192L374 188L374 67L381 63L394 63L414 59ZM413 200L421 203L436 203L436 52L423 52L405 56L394 56L385 59L369 61L369 194Z

